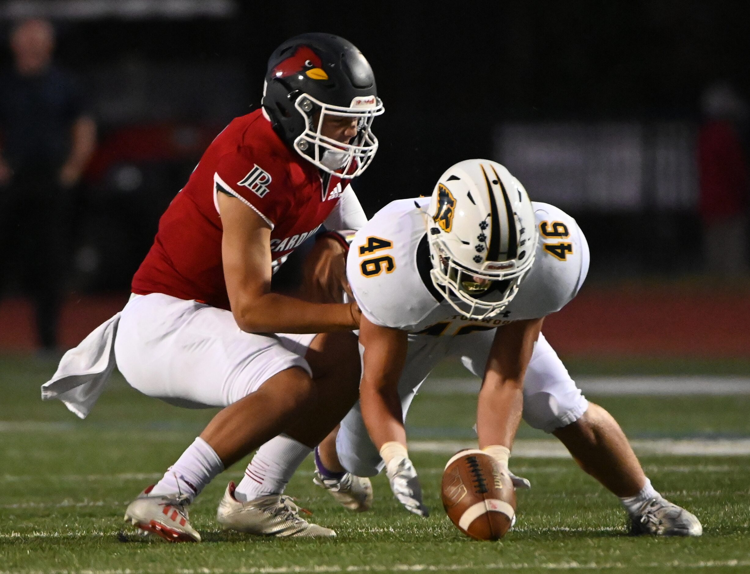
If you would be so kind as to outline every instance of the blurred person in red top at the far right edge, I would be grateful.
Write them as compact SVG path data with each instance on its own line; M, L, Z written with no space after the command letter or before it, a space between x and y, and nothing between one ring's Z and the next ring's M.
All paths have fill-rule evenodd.
M698 135L700 217L706 268L721 276L748 271L748 169L742 147L746 103L727 83L706 88Z

